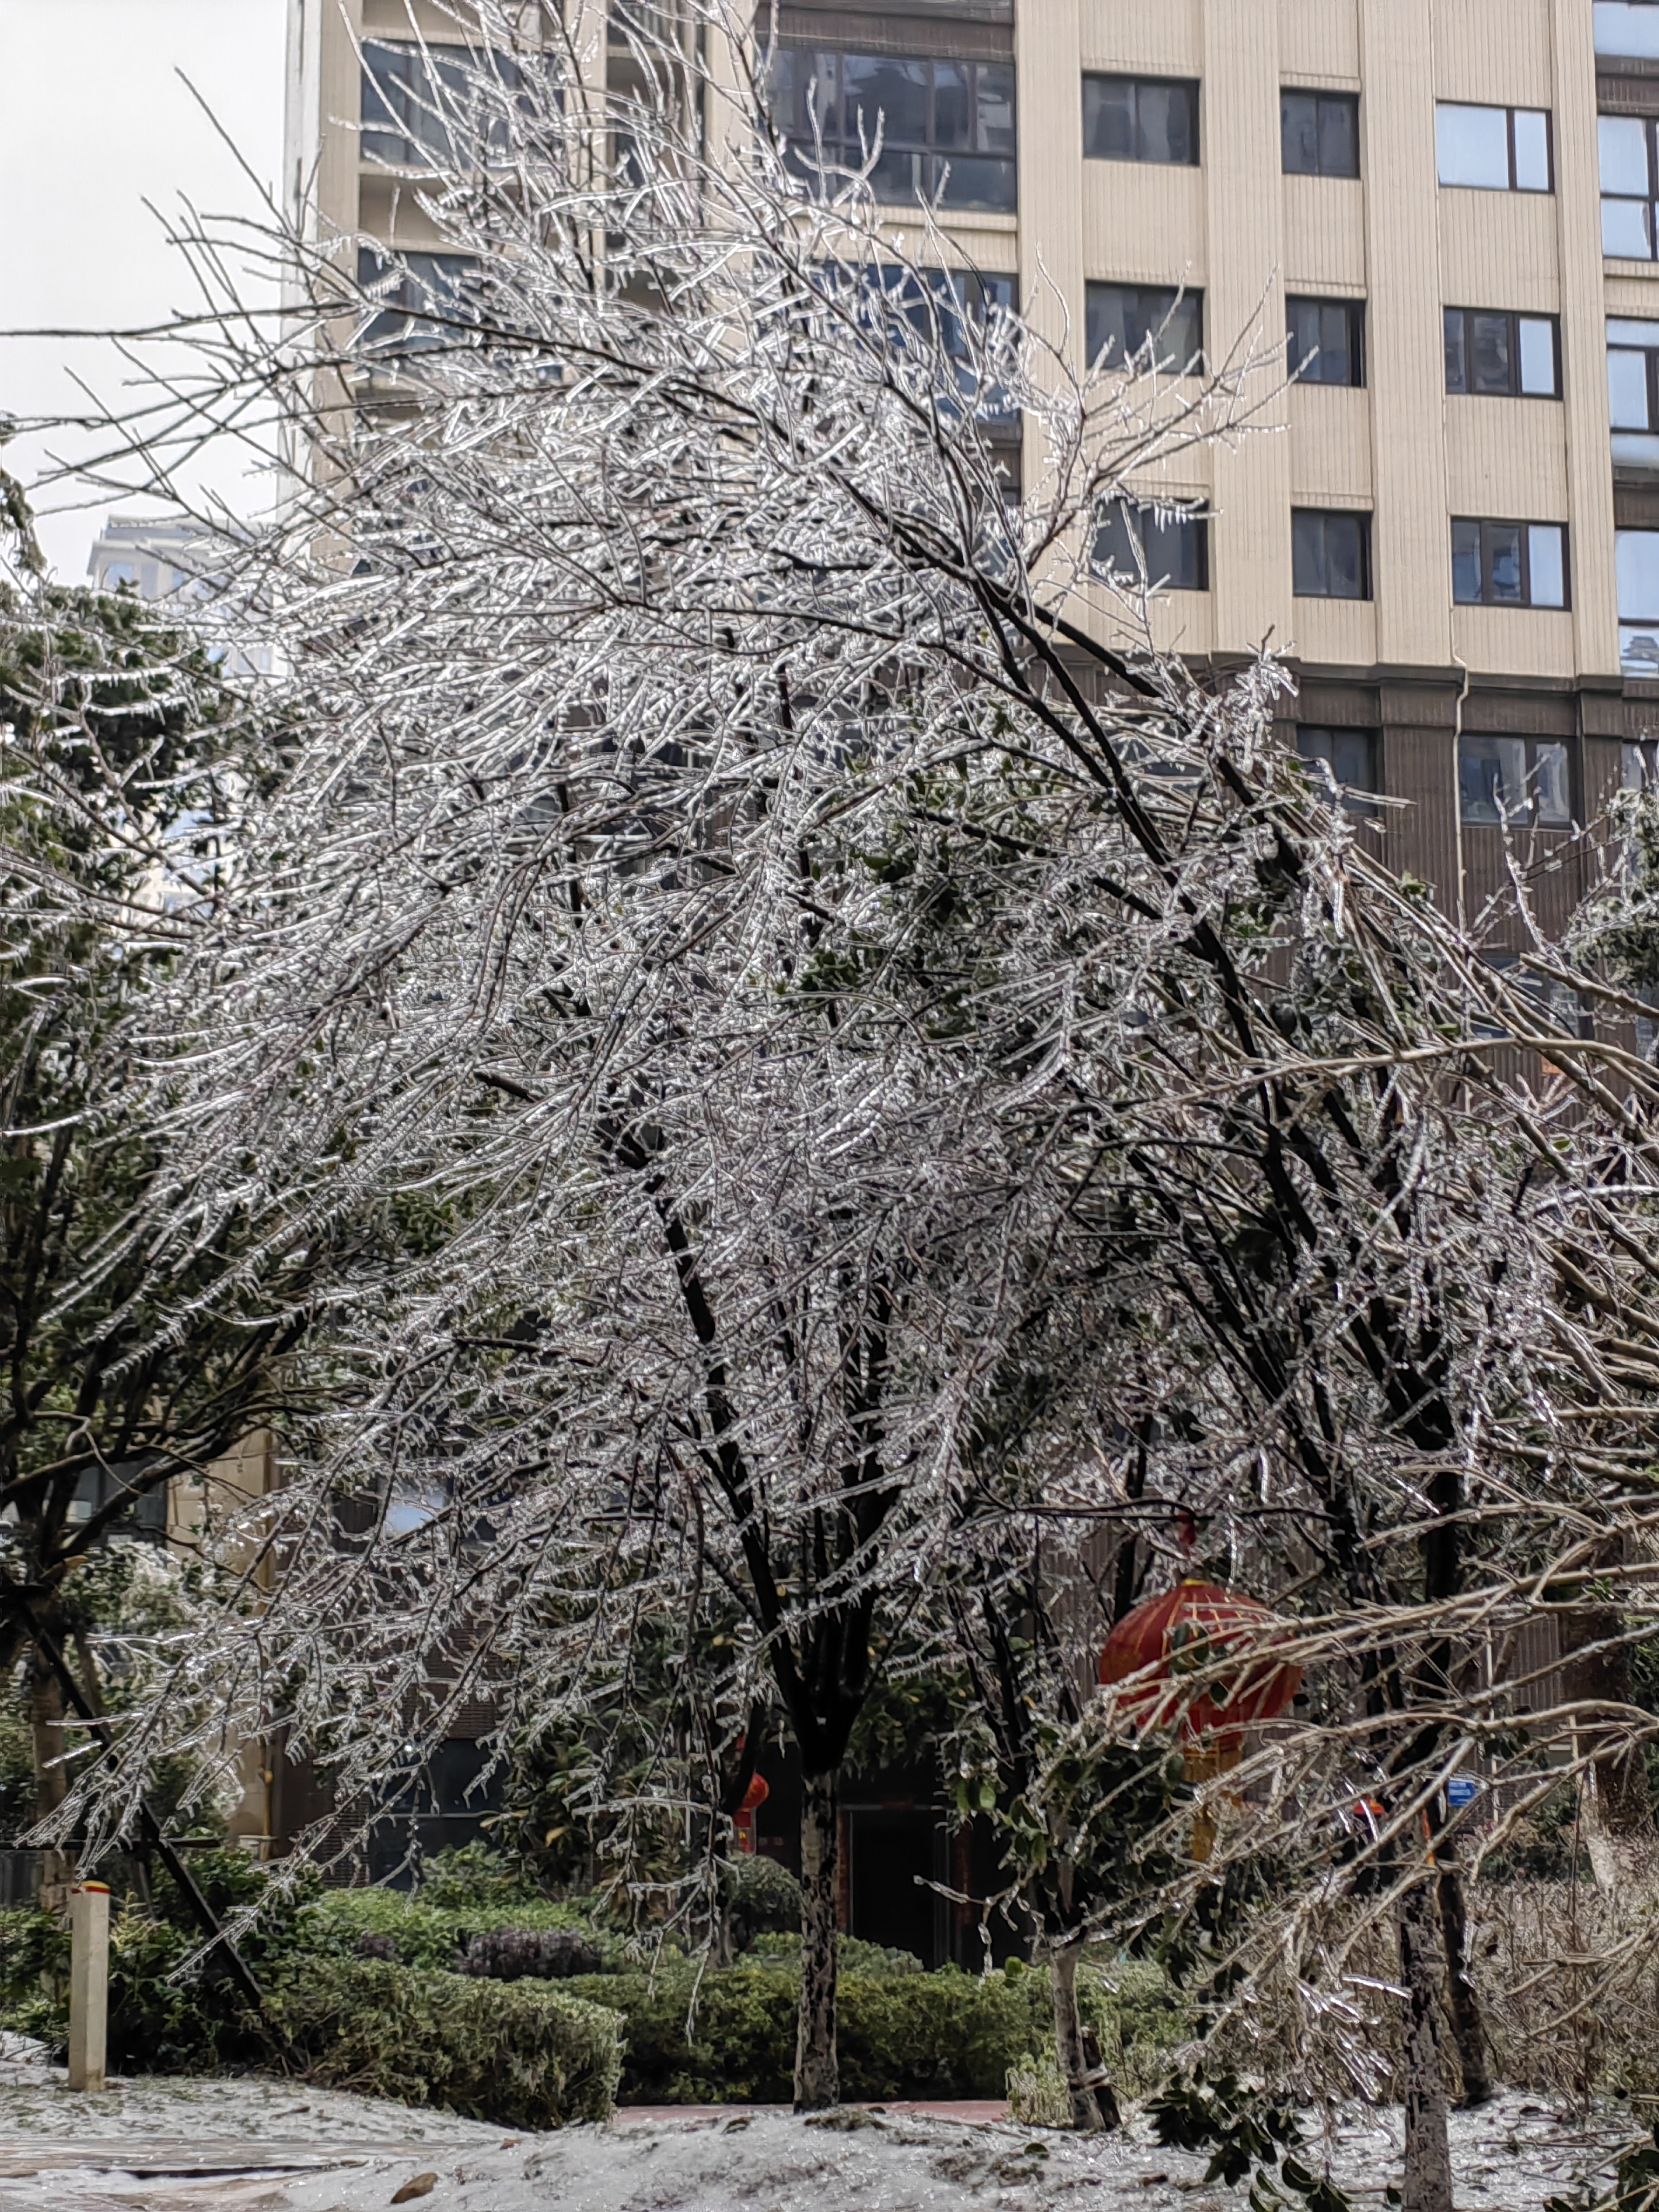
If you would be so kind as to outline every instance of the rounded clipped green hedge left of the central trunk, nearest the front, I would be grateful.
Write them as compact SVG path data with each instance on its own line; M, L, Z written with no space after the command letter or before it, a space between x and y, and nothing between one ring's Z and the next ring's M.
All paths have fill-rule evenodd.
M325 2088L562 2128L606 2119L622 2070L622 2020L571 1989L307 1958L268 1991L265 2033Z

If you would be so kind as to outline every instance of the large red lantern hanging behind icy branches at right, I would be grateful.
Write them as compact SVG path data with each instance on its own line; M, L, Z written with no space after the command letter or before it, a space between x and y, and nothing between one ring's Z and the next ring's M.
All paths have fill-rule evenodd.
M1283 1624L1254 1597L1234 1597L1214 1582L1177 1582L1164 1597L1135 1606L1106 1637L1102 1683L1133 1683L1119 1699L1141 1728L1170 1728L1192 1741L1237 1739L1256 1721L1276 1719L1303 1686L1303 1670L1272 1657ZM1237 1652L1237 1672L1219 1672ZM1208 1674L1190 1690L1194 1674Z

